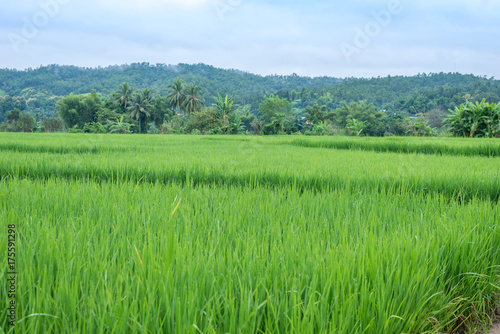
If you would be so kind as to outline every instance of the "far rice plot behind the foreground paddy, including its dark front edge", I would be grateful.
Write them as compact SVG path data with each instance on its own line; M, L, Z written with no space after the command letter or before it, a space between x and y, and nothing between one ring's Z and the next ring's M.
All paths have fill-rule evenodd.
M21 152L4 150L0 177L243 188L258 184L300 191L363 188L436 193L465 201L500 198L500 158L305 148L281 145L280 139L246 137L109 135L101 136L98 145L82 140L87 136L66 145L61 138L52 152L45 148L50 142L23 144L27 148ZM65 153L56 154L57 147L64 147Z

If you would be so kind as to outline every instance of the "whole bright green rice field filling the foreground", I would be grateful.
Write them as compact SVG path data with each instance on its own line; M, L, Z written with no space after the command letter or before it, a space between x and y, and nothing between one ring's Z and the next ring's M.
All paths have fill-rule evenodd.
M1 133L0 333L487 331L499 199L499 140Z

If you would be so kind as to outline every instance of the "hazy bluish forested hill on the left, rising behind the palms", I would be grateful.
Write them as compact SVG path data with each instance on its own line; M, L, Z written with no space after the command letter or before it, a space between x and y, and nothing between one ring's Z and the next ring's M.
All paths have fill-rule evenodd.
M280 89L325 87L340 83L330 77L309 78L298 75L260 76L238 70L224 70L205 64L164 65L135 63L105 68L49 65L24 71L1 69L0 94L22 96L27 88L50 95L85 94L93 89L108 95L124 82L138 89L149 88L166 94L167 85L181 77L203 88L207 102L213 102L217 93L230 94L239 99L276 93ZM3 91L3 92L2 92Z

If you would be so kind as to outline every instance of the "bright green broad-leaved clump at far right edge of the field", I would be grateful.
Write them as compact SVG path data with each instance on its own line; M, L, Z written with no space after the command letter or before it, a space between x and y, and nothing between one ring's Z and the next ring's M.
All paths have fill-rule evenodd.
M446 122L454 136L500 137L500 103L467 101L450 112Z

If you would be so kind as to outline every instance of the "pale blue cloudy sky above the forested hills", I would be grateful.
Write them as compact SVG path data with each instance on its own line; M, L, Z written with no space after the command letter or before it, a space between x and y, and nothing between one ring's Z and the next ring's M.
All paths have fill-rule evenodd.
M500 78L498 0L0 1L0 68L205 63L261 75Z

